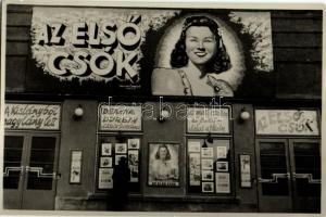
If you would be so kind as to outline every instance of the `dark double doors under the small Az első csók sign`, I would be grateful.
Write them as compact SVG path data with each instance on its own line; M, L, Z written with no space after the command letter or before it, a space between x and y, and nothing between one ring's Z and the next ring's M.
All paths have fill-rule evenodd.
M321 212L321 146L310 139L256 140L260 212Z

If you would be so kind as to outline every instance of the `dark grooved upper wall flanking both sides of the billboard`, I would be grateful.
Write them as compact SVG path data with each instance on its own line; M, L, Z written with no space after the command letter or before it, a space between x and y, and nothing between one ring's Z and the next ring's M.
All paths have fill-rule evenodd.
M32 15L32 7L9 5L8 93L25 92L30 86L25 76L33 64L29 56ZM322 11L271 11L276 98L321 99L322 15ZM41 85L35 78L33 80L34 85Z

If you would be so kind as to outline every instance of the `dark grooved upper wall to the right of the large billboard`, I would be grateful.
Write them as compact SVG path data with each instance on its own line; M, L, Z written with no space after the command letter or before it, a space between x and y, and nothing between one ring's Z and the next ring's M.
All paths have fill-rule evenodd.
M322 11L271 15L277 98L321 99Z

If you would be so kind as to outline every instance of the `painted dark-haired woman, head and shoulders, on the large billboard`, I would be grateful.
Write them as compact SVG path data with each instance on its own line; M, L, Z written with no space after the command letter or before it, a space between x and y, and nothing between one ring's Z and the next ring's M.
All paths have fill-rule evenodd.
M233 65L220 26L208 16L185 18L170 66L153 71L153 94L234 97L243 76Z

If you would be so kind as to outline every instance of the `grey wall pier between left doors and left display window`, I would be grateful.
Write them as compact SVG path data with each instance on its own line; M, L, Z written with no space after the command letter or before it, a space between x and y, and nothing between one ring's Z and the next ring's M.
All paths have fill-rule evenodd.
M75 108L83 106L84 115L79 120L73 118ZM62 106L62 125L60 141L59 171L57 195L59 197L86 197L92 194L96 144L97 144L97 108L95 101L66 100ZM82 184L70 184L71 151L83 150Z

